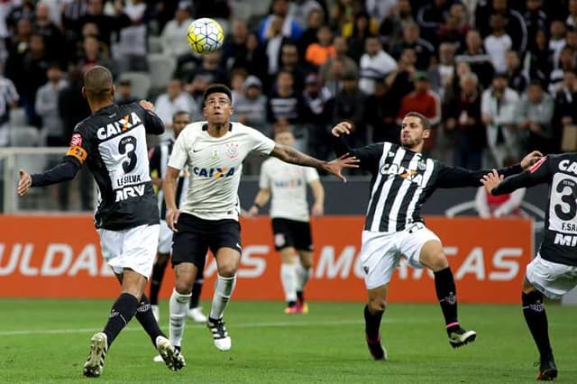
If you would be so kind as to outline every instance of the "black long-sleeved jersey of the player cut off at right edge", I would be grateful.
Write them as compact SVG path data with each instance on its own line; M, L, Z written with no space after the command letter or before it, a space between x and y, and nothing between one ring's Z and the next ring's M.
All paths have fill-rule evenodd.
M545 236L539 253L547 261L577 266L577 153L548 155L525 172L503 180L491 193L549 185Z

